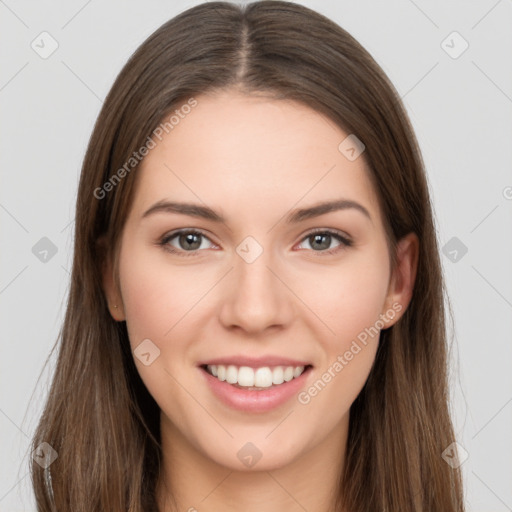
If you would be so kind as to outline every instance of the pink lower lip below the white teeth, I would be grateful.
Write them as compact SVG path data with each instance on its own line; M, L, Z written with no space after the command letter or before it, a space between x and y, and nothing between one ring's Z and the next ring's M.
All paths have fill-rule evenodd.
M266 412L283 405L298 394L304 387L312 367L309 366L300 377L261 391L237 388L210 375L203 367L199 370L213 393L226 405L244 412Z

